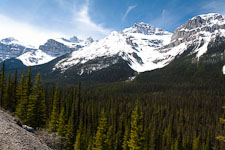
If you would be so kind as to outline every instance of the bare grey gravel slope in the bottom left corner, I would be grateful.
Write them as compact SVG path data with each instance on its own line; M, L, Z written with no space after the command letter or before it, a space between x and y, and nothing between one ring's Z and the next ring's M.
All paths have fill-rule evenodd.
M15 119L0 110L0 150L51 150L33 133L16 124Z

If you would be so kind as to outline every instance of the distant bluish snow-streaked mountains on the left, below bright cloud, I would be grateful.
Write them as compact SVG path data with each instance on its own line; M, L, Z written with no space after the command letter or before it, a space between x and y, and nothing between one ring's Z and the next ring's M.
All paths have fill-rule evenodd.
M0 62L17 58L26 66L45 64L92 42L94 40L91 37L86 40L80 40L76 36L70 39L56 38L49 39L35 49L34 46L26 45L13 37L4 38L0 40Z

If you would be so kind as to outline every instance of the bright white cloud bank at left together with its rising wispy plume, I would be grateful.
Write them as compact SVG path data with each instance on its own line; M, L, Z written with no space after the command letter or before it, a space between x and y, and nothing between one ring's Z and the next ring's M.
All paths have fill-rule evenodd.
M100 39L108 35L112 30L104 28L103 25L95 23L89 13L89 0L85 0L84 5L75 5L72 0L55 0L61 9L68 9L67 15L70 19L50 18L46 20L50 25L48 27L40 27L37 24L28 23L0 14L0 40L7 37L14 37L26 45L32 45L38 48L50 38L59 38L68 36L78 36L87 38L92 36ZM70 7L65 7L69 6ZM29 18L28 18L29 21ZM54 21L53 24L51 21ZM56 27L55 26L63 26Z

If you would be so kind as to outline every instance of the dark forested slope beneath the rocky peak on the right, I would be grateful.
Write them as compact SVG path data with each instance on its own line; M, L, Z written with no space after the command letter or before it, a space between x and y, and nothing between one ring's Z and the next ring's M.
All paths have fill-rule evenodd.
M192 53L195 47L189 47L164 68L144 72L138 75L135 82L155 84L184 84L193 86L225 82L223 66L225 65L225 37L216 37L210 42L206 53L200 58Z

